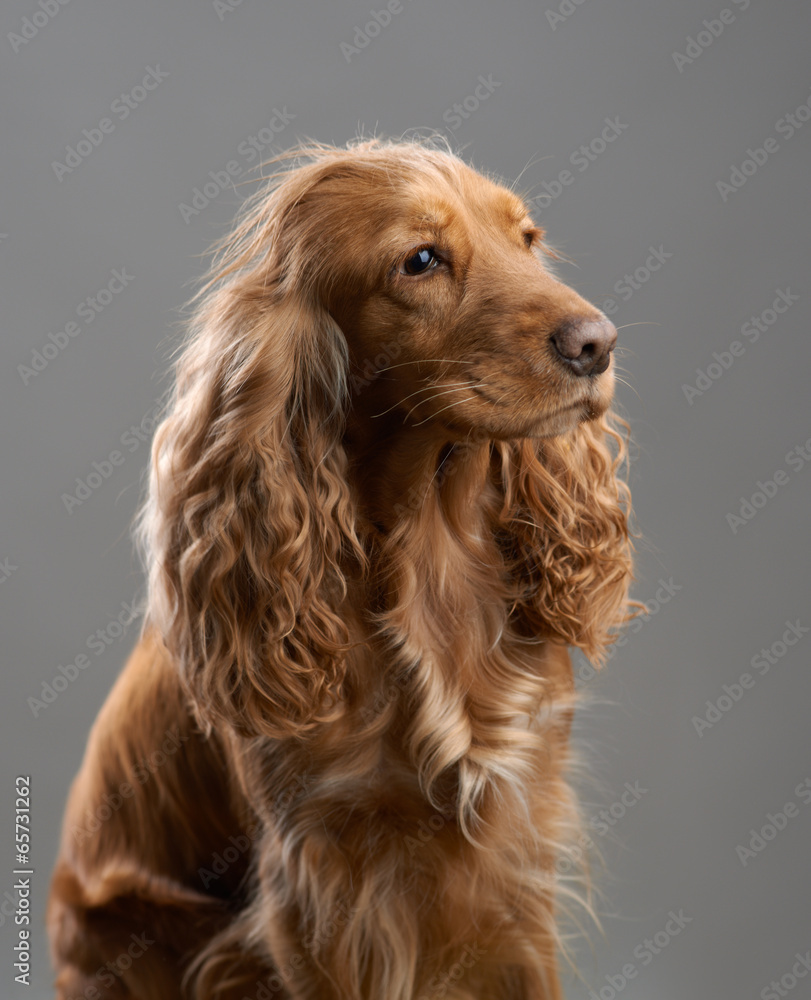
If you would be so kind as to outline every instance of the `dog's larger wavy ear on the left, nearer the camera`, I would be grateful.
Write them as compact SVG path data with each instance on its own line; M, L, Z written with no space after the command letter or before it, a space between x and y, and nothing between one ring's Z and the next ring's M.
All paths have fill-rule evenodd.
M272 202L200 295L138 532L146 623L202 723L279 736L335 710L344 569L363 551L341 445L346 345Z

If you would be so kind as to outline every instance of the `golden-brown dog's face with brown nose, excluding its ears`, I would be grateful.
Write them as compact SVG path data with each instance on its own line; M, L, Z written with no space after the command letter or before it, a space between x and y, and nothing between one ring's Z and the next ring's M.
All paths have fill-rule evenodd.
M499 439L600 416L613 324L545 267L543 232L520 198L432 156L423 170L395 160L374 180L348 170L320 186L344 208L322 253L359 376L353 404L370 418Z

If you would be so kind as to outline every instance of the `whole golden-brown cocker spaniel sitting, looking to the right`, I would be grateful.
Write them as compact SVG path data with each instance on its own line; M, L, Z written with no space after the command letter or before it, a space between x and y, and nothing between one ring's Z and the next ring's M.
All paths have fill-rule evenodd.
M220 245L68 804L62 1000L561 996L567 645L600 659L631 564L616 331L549 256L381 140L295 151Z

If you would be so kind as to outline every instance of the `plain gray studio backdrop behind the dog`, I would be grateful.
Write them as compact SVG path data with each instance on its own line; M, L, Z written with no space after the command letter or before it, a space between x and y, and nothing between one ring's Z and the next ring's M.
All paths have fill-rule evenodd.
M16 52L7 34L41 8L4 5L0 895L13 881L18 774L33 785L36 873L33 984L13 981L6 919L2 996L49 995L41 924L59 818L88 727L135 635L131 626L99 655L86 646L141 586L128 527L148 447L127 451L121 437L166 387L161 373L189 282L203 269L198 255L250 187L217 193L188 223L179 206L209 171L250 165L240 144L274 108L295 115L275 149L299 136L344 143L359 129L437 128L508 179L531 161L521 183L535 195L573 170L574 182L536 213L573 261L561 276L597 303L614 297L618 326L641 324L620 331L630 388L618 387L636 441L632 487L645 536L635 594L653 602L660 579L671 578L674 594L650 604L655 613L599 678L577 659L594 703L578 735L599 779L585 790L587 814L612 804L622 812L626 782L644 793L611 836L593 831L607 868L597 872L605 933L578 945L588 986L572 981L569 996L602 989L610 1000L614 977L623 1000L757 998L811 946L811 807L795 791L811 777L811 637L765 676L750 665L788 620L811 625L811 468L787 457L811 435L811 122L791 138L777 132L811 97L811 17L802 0L753 0L745 10L729 0L734 21L680 70L673 53L723 6L585 0L553 26L546 2L403 0L347 60L341 42L369 20L369 0L243 0L228 13L203 0L71 0ZM125 120L111 114L156 66L168 77ZM451 128L445 113L479 75L498 86ZM52 163L104 117L113 131L60 181ZM570 156L600 136L606 117L627 128L586 170L573 168ZM779 148L724 200L717 182L769 137ZM650 247L671 256L627 301L617 298L615 283L644 265ZM133 276L128 286L92 323L78 319L77 307L120 268ZM799 300L750 343L742 325L779 289ZM79 335L25 384L18 366L71 320ZM689 403L682 386L733 340L744 353ZM69 513L62 494L113 449L123 465ZM727 514L781 469L786 484L733 532ZM81 652L90 666L35 718L28 698ZM754 687L699 736L693 717L744 672ZM799 815L744 866L736 847L787 802ZM645 962L635 949L671 910L690 922ZM617 977L629 963L623 986ZM809 984L790 995L810 996Z

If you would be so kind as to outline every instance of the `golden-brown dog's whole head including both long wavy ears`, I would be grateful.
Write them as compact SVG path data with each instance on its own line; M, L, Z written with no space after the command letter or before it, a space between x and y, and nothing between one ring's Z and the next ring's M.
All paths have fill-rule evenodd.
M423 144L308 148L249 202L192 316L141 518L148 621L207 722L296 732L340 701L342 602L369 555L359 440L367 464L393 437L416 456L476 442L522 627L599 656L630 567L616 331L546 263L520 198Z

